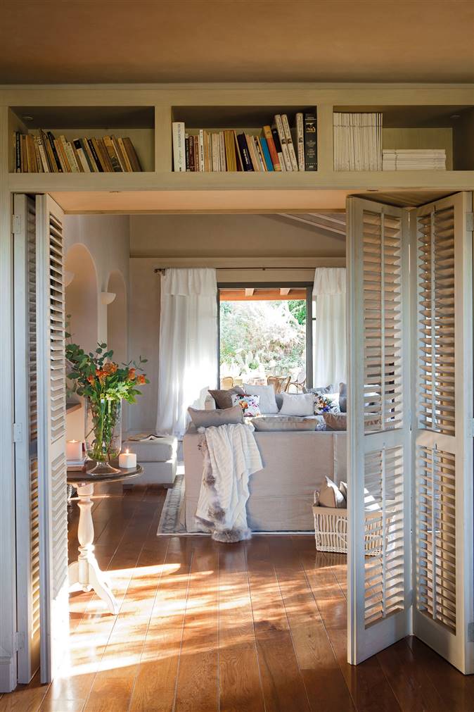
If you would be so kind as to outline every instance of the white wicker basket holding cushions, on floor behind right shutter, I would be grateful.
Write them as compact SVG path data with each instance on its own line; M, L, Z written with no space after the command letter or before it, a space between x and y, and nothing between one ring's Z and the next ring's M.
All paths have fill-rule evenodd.
M314 534L317 551L348 553L348 511L343 508L313 505ZM389 528L387 518L387 530ZM365 555L382 554L382 522L380 512L365 514Z

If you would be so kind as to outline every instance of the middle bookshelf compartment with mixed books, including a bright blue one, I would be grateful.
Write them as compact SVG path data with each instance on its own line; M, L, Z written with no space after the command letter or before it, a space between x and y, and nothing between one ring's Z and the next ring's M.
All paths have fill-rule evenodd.
M174 172L275 174L317 170L314 106L173 106L171 116ZM281 117L279 126L277 116ZM264 127L270 127L271 133Z

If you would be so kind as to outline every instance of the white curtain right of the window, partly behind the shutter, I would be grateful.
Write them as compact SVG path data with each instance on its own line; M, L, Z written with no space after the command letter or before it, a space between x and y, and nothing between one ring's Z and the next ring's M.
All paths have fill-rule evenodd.
M313 296L316 296L315 386L346 382L345 268L317 267Z

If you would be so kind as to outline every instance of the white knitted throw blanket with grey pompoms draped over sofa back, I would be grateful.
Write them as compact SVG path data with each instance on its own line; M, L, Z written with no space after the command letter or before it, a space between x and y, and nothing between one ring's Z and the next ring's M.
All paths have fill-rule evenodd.
M247 500L249 476L262 469L253 427L220 425L206 428L200 441L204 468L196 520L216 541L249 539Z

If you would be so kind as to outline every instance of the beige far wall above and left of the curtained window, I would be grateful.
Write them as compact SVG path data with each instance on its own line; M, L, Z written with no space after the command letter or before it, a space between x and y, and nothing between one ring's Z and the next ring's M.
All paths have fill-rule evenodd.
M129 411L129 428L153 431L158 402L160 276L163 261L213 266L239 258L238 269L217 270L224 281L312 281L318 258L345 258L345 240L273 215L163 215L130 218L129 354L149 359L150 384ZM262 259L259 259L262 258ZM186 260L190 260L186 264ZM249 265L265 270L244 269ZM281 268L295 266L291 271ZM270 268L271 267L271 268Z

